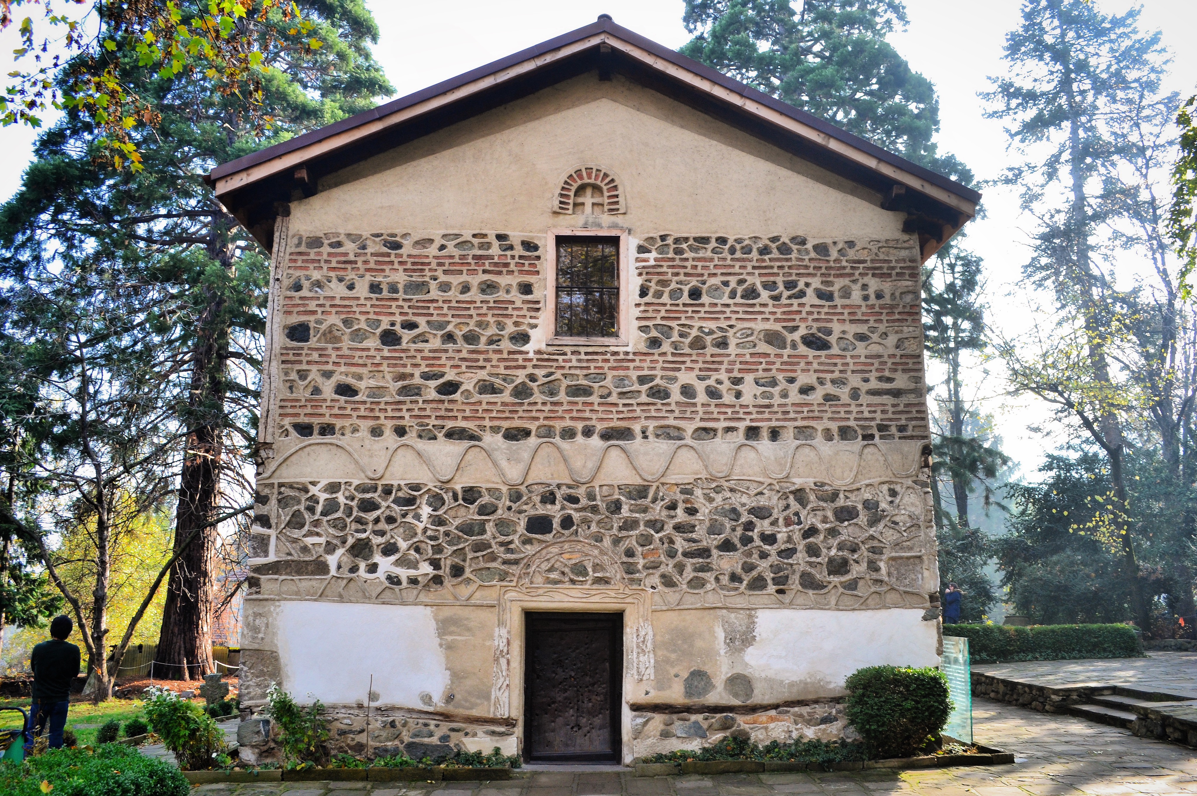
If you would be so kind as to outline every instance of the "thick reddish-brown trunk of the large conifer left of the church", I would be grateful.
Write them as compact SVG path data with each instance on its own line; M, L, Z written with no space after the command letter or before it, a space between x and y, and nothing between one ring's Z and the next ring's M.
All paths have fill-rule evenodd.
M217 235L213 233L213 239ZM225 268L231 253L212 250ZM225 366L229 359L229 323L225 299L214 288L199 318L199 339L192 363L188 402L187 454L180 479L175 522L175 552L186 545L166 582L166 603L154 660L154 676L192 680L215 670L212 660L212 610L215 596L215 551L219 541L213 518L220 505L224 464ZM201 529L187 545L192 533Z

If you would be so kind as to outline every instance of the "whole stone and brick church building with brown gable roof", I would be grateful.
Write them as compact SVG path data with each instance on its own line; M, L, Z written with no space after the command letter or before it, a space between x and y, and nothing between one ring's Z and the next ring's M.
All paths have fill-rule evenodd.
M273 257L244 754L272 682L335 751L630 764L938 663L976 192L606 16L209 181Z

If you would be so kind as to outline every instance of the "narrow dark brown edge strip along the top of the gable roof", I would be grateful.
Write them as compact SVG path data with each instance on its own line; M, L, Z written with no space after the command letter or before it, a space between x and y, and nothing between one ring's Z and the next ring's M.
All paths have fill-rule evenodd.
M226 177L231 174L236 174L238 171L242 171L243 169L248 169L260 163L265 163L267 160L286 154L288 152L300 150L310 144L315 144L317 141L321 141L326 138L329 138L344 130L353 129L354 127L359 127L367 122L372 122L377 119L389 116L390 114L401 111L406 108L411 108L412 105L421 103L426 99L431 99L432 97L443 95L448 91L452 91L454 89L458 89L480 78L485 78L497 72L502 72L503 69L512 67L517 63L522 63L528 59L535 57L536 55L540 55L542 53L549 53L560 47L572 44L573 42L581 41L583 38L587 38L588 36L594 36L595 34L601 34L601 32L613 34L614 36L622 38L630 44L634 44L644 50L648 50L654 55L662 57L666 61L669 61L670 63L674 63L675 66L680 66L683 69L688 69L703 78L706 78L707 80L711 80L712 83L723 86L724 89L728 89L748 99L752 99L753 102L759 102L762 105L767 105L768 108L780 114L784 114L785 116L789 116L795 121L802 122L803 124L808 124L809 127L813 127L821 133L826 133L831 138L843 141L844 144L849 144L850 146L861 150L862 152L867 152L876 157L879 160L883 160L891 165L898 166L903 171L910 172L922 180L925 180L935 186L938 186L940 188L943 188L944 190L948 190L955 194L956 196L961 196L962 199L966 199L970 202L980 201L980 193L973 190L972 188L968 188L967 186L962 186L954 180L944 177L941 174L936 174L935 171L920 166L917 163L912 163L906 158L894 154L888 150L883 150L875 144L870 144L869 141L865 141L858 135L853 135L847 130L836 127L834 124L832 124L826 120L819 119L818 116L808 114L804 110L800 110L794 105L790 105L788 103L782 102L780 99L777 99L776 97L771 97L770 95L766 95L761 91L758 91L757 89L747 86L743 83L740 83L739 80L729 78L728 75L723 74L717 69L712 69L711 67L704 63L699 63L693 59L686 57L685 55L675 50L663 47L650 38L645 38L644 36L640 36L634 31L616 25L609 18L606 19L600 18L597 22L590 23L589 25L584 25L576 30L571 30L567 34L561 34L560 36L549 38L548 41L541 42L540 44L534 44L527 49L519 50L518 53L512 53L506 57L499 59L498 61L492 61L491 63L480 66L476 69L470 69L469 72L458 74L455 78L442 80L440 83L431 85L426 89L421 89L420 91L409 93L406 97L393 99L371 110L363 111L356 116L350 116L348 119L342 119L339 122L334 122L332 124L328 124L327 127L321 127L320 129L311 130L310 133L297 135L293 139L239 157L236 160L223 163L217 168L214 168L211 172L208 172L206 180L209 184L214 183L217 180L221 177Z

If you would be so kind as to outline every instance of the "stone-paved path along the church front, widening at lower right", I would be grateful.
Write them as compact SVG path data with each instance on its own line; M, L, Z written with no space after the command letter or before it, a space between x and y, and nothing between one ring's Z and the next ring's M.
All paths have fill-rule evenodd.
M1014 752L1014 765L935 771L656 777L528 772L497 783L280 783L200 785L199 796L1118 796L1197 794L1192 749L1135 737L1071 716L1037 713L989 699L973 703L977 740Z

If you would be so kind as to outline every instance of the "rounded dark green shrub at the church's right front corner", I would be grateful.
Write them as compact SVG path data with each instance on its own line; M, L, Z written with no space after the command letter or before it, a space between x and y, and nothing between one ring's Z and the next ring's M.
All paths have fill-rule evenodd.
M948 679L938 669L873 666L853 672L847 721L881 758L909 758L938 736L952 713Z

